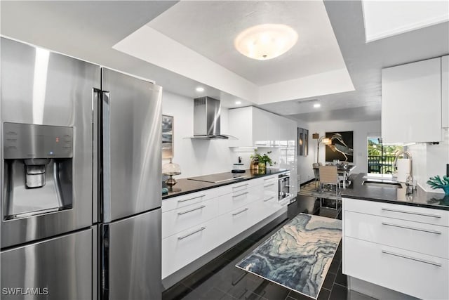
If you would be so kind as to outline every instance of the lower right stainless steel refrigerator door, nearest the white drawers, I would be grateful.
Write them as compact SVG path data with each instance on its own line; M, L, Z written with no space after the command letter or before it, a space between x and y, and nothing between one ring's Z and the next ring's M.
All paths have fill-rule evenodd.
M161 299L161 209L102 225L101 299Z

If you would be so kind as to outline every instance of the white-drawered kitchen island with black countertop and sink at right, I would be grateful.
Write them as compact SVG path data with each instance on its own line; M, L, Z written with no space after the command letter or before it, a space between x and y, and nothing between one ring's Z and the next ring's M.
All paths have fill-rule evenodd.
M448 196L407 193L403 183L373 177L352 176L342 190L348 288L384 299L449 299Z

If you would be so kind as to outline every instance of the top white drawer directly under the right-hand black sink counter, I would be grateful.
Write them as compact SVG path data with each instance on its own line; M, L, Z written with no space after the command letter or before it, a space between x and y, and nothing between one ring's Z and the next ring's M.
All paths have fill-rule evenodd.
M345 211L355 211L363 214L373 214L375 216L449 227L449 211L441 209L428 209L425 207L412 207L409 205L349 198L343 199L343 208Z

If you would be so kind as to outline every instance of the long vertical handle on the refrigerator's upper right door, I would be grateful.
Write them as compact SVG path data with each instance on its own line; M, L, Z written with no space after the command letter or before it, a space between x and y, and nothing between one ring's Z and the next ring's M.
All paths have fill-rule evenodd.
M110 140L110 94L102 91L102 202L103 202L103 222L109 223L111 220L111 140Z

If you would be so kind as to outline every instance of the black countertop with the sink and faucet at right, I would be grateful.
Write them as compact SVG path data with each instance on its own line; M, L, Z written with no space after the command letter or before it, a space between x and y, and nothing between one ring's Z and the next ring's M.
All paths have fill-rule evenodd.
M406 194L407 188L404 183L401 183L402 188L363 185L363 181L368 180L363 176L367 176L367 174L352 174L350 176L351 185L341 190L342 197L449 210L449 196L444 194L429 193L419 186L412 194Z

